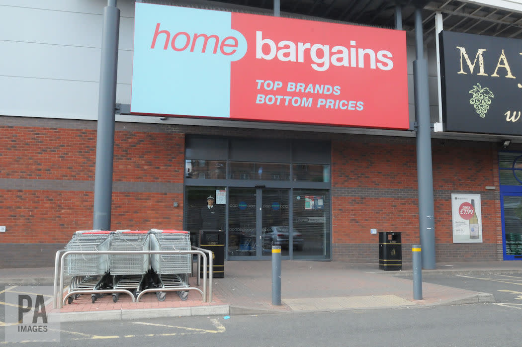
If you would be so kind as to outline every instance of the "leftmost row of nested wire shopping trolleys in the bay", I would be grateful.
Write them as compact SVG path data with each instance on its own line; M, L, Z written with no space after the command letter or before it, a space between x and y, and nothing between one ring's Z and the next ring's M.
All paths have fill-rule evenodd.
M108 250L110 231L79 230L73 234L65 250ZM71 254L65 259L64 273L72 276L68 292L104 289L109 285L108 255ZM70 304L81 294L67 298ZM92 303L103 294L91 294Z

